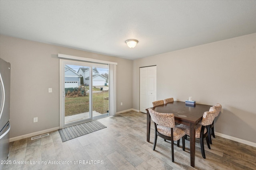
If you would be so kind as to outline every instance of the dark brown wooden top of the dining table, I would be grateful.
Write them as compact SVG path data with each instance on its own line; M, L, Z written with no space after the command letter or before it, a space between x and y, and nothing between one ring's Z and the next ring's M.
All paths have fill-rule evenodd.
M151 107L151 109L159 113L173 113L175 119L180 123L183 121L198 123L198 121L202 119L204 112L209 111L210 107L210 105L204 104L186 106L185 102L174 101L168 104Z

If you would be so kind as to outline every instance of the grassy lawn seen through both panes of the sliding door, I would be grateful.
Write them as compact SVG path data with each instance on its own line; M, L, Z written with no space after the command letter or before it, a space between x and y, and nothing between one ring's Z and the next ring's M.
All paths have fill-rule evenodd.
M108 92L93 93L93 110L99 113L108 111ZM65 116L76 115L89 111L89 96L65 98Z

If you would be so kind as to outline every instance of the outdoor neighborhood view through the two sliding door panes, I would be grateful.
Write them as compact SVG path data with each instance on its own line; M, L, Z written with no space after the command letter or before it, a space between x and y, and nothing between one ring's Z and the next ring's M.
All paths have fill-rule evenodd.
M90 118L90 67L65 64L65 123ZM92 68L92 114L108 115L108 68Z

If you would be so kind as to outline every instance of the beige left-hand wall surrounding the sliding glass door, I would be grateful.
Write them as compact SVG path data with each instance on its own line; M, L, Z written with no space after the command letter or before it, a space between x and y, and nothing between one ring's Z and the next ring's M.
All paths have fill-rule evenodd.
M116 110L132 108L131 60L0 35L0 57L11 63L10 138L59 126L58 53L118 63Z

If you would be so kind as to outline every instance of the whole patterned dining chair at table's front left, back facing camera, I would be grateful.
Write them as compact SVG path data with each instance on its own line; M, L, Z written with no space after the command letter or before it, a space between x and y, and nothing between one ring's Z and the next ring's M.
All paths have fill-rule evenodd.
M180 138L182 138L182 149L185 151L185 131L179 129L174 124L174 114L172 113L158 113L152 109L148 109L152 121L155 125L155 140L153 150L156 149L157 137L162 137L165 140L169 140L172 143L172 162L174 162L174 144L173 141L177 141L179 147Z

